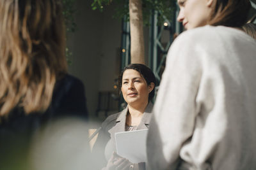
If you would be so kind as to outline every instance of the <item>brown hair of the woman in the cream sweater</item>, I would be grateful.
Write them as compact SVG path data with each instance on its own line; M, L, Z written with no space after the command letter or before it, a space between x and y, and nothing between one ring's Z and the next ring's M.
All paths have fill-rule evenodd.
M213 8L209 25L242 27L252 7L249 0L213 0Z

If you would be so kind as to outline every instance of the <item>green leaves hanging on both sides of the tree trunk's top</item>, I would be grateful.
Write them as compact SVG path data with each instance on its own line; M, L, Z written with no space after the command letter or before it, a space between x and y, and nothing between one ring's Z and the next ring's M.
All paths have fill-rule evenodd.
M128 16L129 20L129 0L93 0L92 9L103 11L105 6L113 3L117 4L115 18L124 18ZM173 11L175 10L175 0L141 0L143 11L143 23L149 24L149 18L152 15L152 11L155 10L159 13L159 24L164 22L164 18L172 21Z

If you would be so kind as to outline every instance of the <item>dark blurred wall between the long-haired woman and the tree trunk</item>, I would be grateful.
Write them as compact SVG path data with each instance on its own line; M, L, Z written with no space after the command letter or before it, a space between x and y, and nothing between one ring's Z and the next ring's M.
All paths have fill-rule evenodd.
M67 46L72 52L68 72L83 81L90 118L94 119L99 92L118 93L114 85L120 73L122 20L113 18L115 4L106 6L103 12L92 10L91 4L88 0L76 1L77 27L76 31L68 33ZM147 27L144 34L147 56ZM116 111L118 109L112 109ZM99 113L99 117L102 115L104 113Z

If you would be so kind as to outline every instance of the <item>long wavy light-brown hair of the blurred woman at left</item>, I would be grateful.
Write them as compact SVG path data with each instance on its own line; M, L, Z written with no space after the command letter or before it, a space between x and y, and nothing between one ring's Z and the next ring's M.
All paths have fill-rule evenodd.
M47 110L67 73L61 1L1 0L0 23L0 115Z

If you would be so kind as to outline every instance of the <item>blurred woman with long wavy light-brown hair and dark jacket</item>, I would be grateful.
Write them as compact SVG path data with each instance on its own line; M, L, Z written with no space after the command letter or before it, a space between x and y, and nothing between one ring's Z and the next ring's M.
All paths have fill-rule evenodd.
M60 0L1 0L0 23L1 152L15 139L26 152L27 137L44 122L88 116L84 87L67 74Z

